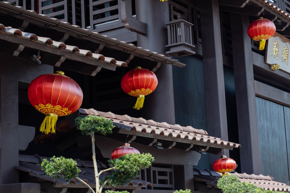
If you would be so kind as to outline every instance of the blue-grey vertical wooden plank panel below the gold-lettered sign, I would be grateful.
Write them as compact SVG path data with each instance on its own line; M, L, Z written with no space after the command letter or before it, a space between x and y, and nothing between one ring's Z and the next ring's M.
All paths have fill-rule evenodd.
M256 97L257 123L260 149L261 174L272 176L275 181L289 181L287 144L282 105ZM289 108L285 108L290 117ZM284 122L285 121L285 122ZM286 129L286 133L287 133ZM288 132L289 134L289 132Z

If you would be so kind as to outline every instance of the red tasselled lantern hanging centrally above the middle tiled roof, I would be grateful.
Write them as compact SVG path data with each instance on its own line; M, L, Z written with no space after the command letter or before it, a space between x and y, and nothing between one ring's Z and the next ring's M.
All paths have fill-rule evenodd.
M134 109L142 109L144 97L152 93L158 84L156 75L147 69L137 67L127 72L122 80L121 87L125 93L137 97Z

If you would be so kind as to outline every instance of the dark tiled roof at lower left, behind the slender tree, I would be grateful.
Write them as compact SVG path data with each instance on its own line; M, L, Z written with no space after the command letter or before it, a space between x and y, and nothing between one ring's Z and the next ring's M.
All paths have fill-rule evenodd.
M48 160L50 159L48 157L42 157L39 155L19 155L19 166L16 166L15 168L23 172L28 172L31 177L36 177L37 179L53 182L55 183L54 187L86 188L81 182L76 179L71 179L70 183L66 183L62 176L60 176L59 179L47 176L45 171L41 170L40 166L40 163L43 161L44 158ZM95 170L93 168L93 161L82 161L80 159L75 159L75 161L77 161L78 168L81 169L81 172L79 173L79 178L87 182L91 187L95 187ZM105 164L98 160L97 166L99 171L107 168ZM108 175L110 171L101 174L100 180L102 180L105 175ZM126 186L134 187L136 189L141 187L147 187L147 185L151 186L151 183L144 180L134 179L131 182L127 183ZM126 189L126 187L124 189Z

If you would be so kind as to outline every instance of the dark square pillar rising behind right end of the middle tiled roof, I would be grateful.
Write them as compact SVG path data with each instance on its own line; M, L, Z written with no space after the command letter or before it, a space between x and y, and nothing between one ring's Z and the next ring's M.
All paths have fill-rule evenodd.
M228 140L224 69L218 1L200 0L204 87L206 98L207 131L215 137ZM225 151L229 156L229 151ZM210 155L210 164L219 159Z

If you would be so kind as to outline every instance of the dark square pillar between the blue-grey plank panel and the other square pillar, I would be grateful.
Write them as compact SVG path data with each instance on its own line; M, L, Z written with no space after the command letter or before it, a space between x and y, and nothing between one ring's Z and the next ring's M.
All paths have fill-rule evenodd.
M231 14L235 96L239 141L247 141L240 149L241 170L260 174L258 126L255 102L251 40L247 35L249 17Z

